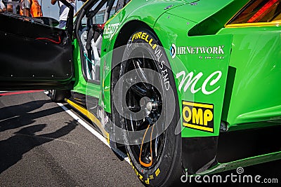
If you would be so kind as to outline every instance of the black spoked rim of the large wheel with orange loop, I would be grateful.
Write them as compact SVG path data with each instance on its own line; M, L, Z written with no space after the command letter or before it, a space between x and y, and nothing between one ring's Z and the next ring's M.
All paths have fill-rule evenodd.
M155 65L157 62L152 60L151 55L150 58L147 58L147 55L148 54L144 54L144 52L141 54L138 53L137 57L129 59L126 62L125 67L125 74L133 69L137 70L136 76L138 76L138 80L143 80L143 82L130 85L129 81L124 81L124 85L129 87L129 90L126 92L126 104L129 106L129 110L132 113L137 113L141 111L142 105L146 106L146 117L142 120L134 120L135 117L133 114L130 114L129 119L124 120L126 130L145 130L141 144L129 145L131 156L133 156L138 164L145 169L154 167L157 164L159 158L161 158L162 150L166 140L165 132L157 134L159 130L155 125L156 121L159 119L159 116L165 112L162 109L162 99L164 98L162 98L159 90L153 86L152 80L155 77L152 77L152 75L143 71L143 69L152 69L159 72L159 69ZM162 81L160 76L157 76L157 78L159 78L159 81ZM148 82L152 82L152 84ZM146 103L142 103L143 101L141 101L141 99L143 97L148 98ZM131 137L129 137L129 139L130 138ZM149 139L149 141L145 142L145 139Z

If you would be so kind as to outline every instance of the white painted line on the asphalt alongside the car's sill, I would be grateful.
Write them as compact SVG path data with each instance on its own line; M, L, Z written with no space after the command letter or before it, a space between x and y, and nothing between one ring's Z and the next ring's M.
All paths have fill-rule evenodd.
M62 107L63 110L65 110L70 116L72 116L72 118L74 118L75 120L77 120L78 123L80 123L83 127L86 128L86 130L89 130L89 132L91 132L93 135L95 135L98 139L100 139L100 141L103 141L103 143L110 148L110 145L107 143L105 137L103 137L103 135L101 135L100 133L98 133L96 130L93 129L93 127L91 127L90 125L88 125L84 120L82 120L81 118L79 118L75 113L73 113L72 111L70 111L70 109L67 109L67 107L65 107L63 104L61 103L57 103L58 106ZM122 155L120 155L122 156ZM126 157L124 158L124 160L126 162L128 162L130 164L129 158Z

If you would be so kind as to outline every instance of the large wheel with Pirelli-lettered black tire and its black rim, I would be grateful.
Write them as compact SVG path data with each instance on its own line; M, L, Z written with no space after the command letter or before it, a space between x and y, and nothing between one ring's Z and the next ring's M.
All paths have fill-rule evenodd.
M121 117L122 128L126 130L124 141L129 160L145 186L174 186L181 183L182 175L181 133L175 133L179 121L178 95L169 61L161 46L157 36L150 30L138 30L131 35L126 45L119 71L121 79L122 76L130 74L130 71L136 71L137 78L132 76L133 78L141 78L140 80L145 79L149 82L126 83L128 78L124 79L125 81L119 86L119 95L124 95L119 100L121 108L130 106L132 113L141 112L141 97L148 97L148 102L155 107L151 109L150 104L144 104L149 114L142 120L134 120L132 118L136 116L129 117L126 114ZM147 69L155 71L157 76L150 74ZM146 92L142 92L142 89L146 89ZM173 99L174 102L171 102ZM123 102L126 106L122 104ZM158 123L160 118L163 123ZM137 138L131 137L129 131L141 130L145 130L141 144L130 145ZM147 132L150 133L150 138ZM144 143L145 140L148 142Z

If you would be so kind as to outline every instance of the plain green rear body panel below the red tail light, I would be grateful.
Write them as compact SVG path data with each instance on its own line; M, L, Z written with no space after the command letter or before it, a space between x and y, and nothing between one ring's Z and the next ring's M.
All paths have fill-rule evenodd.
M235 76L229 86L233 90L228 90L232 94L226 102L230 105L224 106L228 110L224 111L223 120L228 121L230 130L237 126L247 129L247 124L260 121L277 125L281 119L280 27L226 28L219 34L233 34L230 67Z

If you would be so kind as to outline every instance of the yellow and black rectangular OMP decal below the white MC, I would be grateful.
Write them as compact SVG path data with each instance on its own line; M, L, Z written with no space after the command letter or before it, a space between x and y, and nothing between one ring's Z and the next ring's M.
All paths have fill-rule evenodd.
M183 126L214 132L214 104L183 101Z

